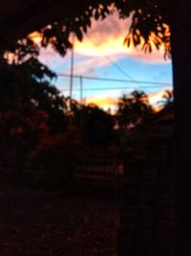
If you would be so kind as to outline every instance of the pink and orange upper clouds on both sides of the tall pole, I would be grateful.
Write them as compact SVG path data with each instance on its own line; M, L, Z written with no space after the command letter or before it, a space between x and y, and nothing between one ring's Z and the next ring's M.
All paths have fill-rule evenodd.
M74 60L75 70L77 73L94 74L94 67L107 66L109 61L104 59L109 56L113 60L121 58L132 58L145 63L169 63L164 61L164 50L160 47L152 52L152 54L145 54L140 47L135 48L132 45L127 47L123 45L125 35L128 33L128 29L131 24L131 19L118 19L117 13L108 16L104 20L93 20L92 27L89 29L88 34L84 35L82 42L75 40L74 42ZM39 36L35 33L32 34L36 41L39 41ZM46 50L41 50L40 58L41 60L48 64L49 66L56 68L62 65L63 71L70 66L70 56L69 51L65 58L61 58L56 54L51 47ZM79 60L82 58L81 64ZM92 59L91 59L92 58ZM89 66L90 65L90 66ZM92 67L91 67L92 65Z

